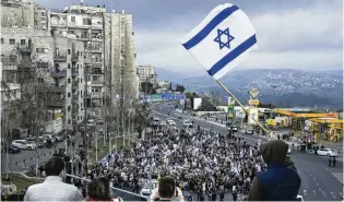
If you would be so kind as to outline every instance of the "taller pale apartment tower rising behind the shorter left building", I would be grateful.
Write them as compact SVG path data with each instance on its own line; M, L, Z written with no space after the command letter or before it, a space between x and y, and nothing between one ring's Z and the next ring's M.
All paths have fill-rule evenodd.
M135 56L131 14L107 13L104 7L70 5L64 11L48 11L48 21L52 33L67 33L84 44L87 117L103 117L104 97L110 90L114 97L123 94L127 99L138 98L139 85L132 82Z

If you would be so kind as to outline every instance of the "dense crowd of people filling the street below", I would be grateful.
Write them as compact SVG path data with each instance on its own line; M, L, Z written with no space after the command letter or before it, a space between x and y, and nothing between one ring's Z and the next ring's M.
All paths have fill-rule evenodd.
M236 199L248 194L256 174L266 168L259 147L229 133L166 128L147 133L130 150L114 150L88 167L87 178L107 176L114 187L139 193L147 179L174 176L197 200L224 200L229 192Z

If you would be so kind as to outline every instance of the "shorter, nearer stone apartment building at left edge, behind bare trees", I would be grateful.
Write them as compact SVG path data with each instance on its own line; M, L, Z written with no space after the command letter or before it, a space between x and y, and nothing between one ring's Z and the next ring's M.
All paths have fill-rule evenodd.
M66 36L51 36L34 28L2 27L2 81L19 86L20 72L35 63L44 68L44 83L49 91L44 106L47 108L45 130L59 132L72 129L83 120L84 46ZM74 123L74 124L73 124Z

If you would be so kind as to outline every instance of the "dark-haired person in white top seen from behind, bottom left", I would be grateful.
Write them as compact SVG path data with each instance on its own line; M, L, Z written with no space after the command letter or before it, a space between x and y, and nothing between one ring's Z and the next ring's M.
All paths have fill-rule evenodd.
M62 182L64 168L61 157L52 157L45 165L46 180L28 187L24 201L83 201L76 187Z

